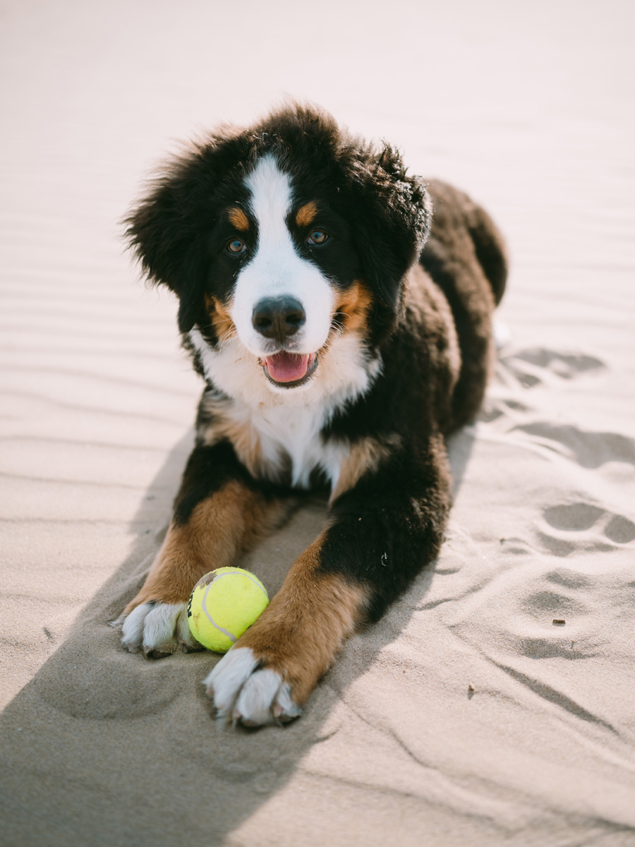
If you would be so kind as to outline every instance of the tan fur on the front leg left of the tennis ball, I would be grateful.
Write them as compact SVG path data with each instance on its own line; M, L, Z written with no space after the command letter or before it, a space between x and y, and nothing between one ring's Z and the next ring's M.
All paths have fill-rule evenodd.
M202 576L231 565L241 552L275 529L288 512L284 501L266 502L239 482L227 483L200 502L187 523L170 524L143 588L124 614L152 600L186 601Z

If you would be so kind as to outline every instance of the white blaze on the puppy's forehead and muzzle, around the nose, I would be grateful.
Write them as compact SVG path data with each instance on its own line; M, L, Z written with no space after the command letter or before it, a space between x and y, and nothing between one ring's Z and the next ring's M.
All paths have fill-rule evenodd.
M258 244L256 255L236 281L230 316L238 336L255 356L275 352L272 341L254 329L251 316L263 298L289 296L301 302L306 323L290 338L288 349L317 352L329 336L334 291L319 269L295 252L286 224L293 202L290 177L267 155L247 177L246 185L258 224Z

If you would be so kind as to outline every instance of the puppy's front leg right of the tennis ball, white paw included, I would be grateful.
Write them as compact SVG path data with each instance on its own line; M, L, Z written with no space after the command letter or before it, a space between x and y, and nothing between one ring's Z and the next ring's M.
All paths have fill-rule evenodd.
M301 713L348 636L439 551L450 507L443 440L393 454L338 495L329 527L206 679L218 716L258 726Z

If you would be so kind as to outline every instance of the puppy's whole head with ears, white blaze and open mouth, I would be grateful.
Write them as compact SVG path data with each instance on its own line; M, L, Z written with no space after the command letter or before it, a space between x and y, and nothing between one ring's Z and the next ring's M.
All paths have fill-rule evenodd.
M338 337L377 349L429 214L392 147L293 106L191 146L127 224L148 278L179 296L196 354L230 346L284 393L318 379Z

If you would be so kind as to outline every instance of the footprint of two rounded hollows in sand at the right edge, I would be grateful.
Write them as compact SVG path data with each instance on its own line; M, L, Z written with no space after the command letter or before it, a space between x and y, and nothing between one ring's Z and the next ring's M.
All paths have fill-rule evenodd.
M635 523L590 503L564 503L544 509L536 530L540 545L555 556L611 552L635 540Z

